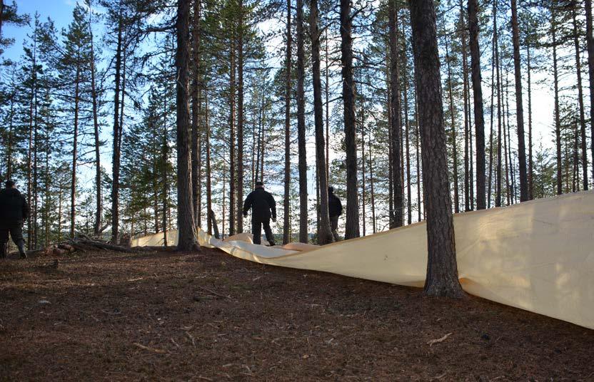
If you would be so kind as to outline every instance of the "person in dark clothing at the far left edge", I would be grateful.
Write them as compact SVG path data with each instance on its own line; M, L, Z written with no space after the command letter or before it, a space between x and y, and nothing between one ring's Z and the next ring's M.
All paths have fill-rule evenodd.
M5 186L0 190L0 258L6 257L10 234L16 247L19 247L21 259L26 259L23 224L29 217L29 205L12 180L7 180Z

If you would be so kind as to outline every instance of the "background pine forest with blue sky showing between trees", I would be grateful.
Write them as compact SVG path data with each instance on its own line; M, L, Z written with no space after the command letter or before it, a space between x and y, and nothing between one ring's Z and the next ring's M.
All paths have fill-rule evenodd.
M424 100L407 2L353 1L350 113L341 77L345 19L334 2L317 3L191 1L192 212L208 231L212 210L222 234L242 232L243 198L264 180L277 200L275 232L284 242L317 242L321 172L347 205L346 237L425 217ZM594 177L590 0L518 1L517 11L515 0L476 3L436 3L453 212L587 190ZM3 59L0 83L0 178L16 180L29 199L29 248L76 232L117 241L176 228L176 6L80 1L64 30L19 14L15 3L2 9L3 29L29 30L21 58ZM0 36L3 48L11 43ZM473 55L480 56L477 71ZM533 134L538 86L553 89L552 144ZM328 143L323 162L313 155L319 127Z

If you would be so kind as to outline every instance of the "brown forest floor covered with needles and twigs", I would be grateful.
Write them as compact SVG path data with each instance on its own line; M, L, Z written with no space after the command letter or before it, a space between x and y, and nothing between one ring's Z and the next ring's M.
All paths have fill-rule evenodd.
M473 296L216 249L0 261L0 381L594 381L593 344Z

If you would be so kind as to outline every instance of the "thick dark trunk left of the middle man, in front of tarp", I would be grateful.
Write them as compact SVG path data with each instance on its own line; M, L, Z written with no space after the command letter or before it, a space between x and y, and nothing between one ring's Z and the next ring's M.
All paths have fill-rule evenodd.
M178 0L176 21L176 145L178 250L199 250L193 219L191 132L188 92L190 0Z

